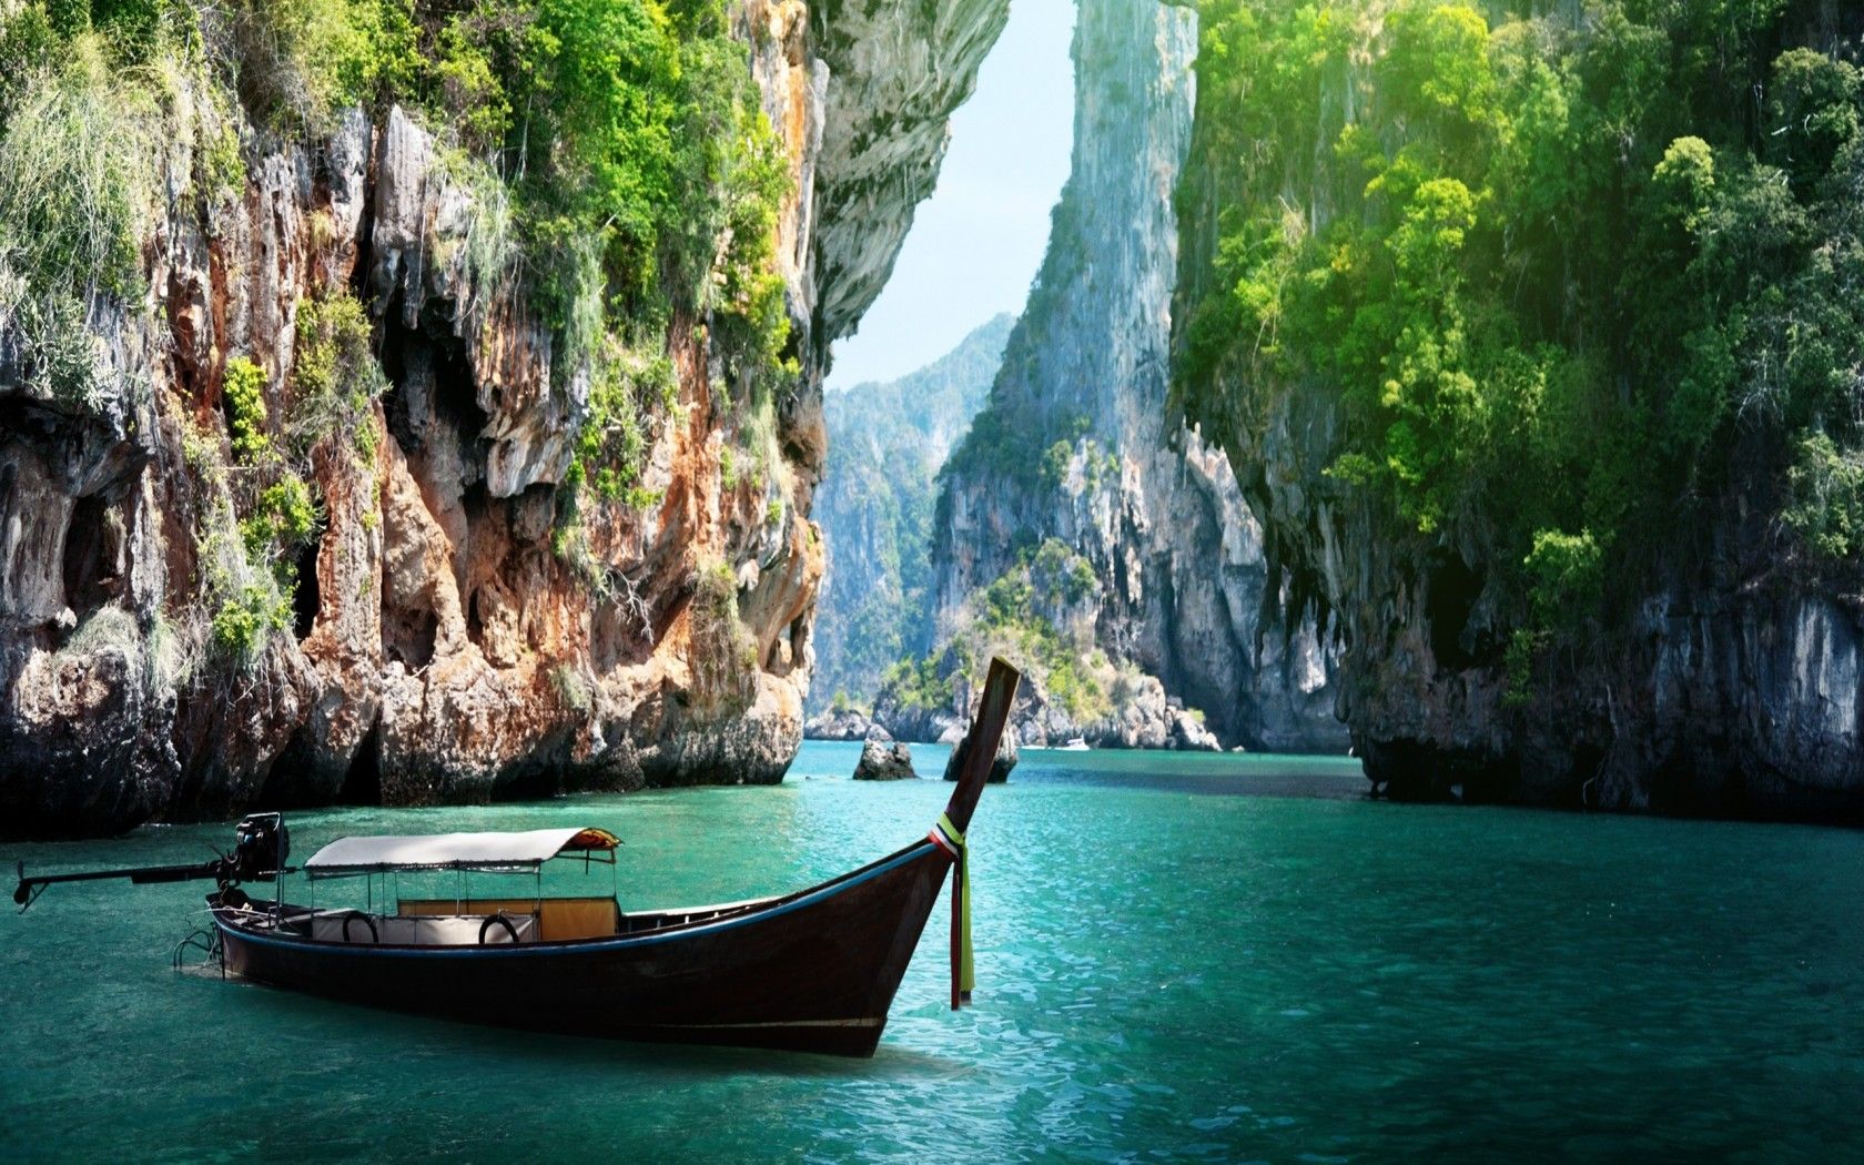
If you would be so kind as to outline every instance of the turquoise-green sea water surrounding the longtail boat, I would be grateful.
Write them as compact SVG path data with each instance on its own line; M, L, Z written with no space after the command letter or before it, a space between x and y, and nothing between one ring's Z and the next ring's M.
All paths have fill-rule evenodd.
M587 822L628 843L624 904L747 897L938 816L939 781L844 781L856 749L809 744L775 788L304 813L295 844ZM977 1005L945 1007L941 906L872 1061L526 1036L175 975L198 887L52 887L0 919L0 1159L1864 1152L1864 835L1363 788L1344 761L1027 751L971 829ZM227 835L0 857L186 861Z

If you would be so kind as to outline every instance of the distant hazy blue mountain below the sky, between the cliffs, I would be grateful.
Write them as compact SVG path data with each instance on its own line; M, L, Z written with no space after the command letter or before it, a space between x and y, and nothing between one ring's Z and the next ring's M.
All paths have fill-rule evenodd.
M926 548L938 472L984 406L1012 317L999 315L891 384L831 391L815 520L828 548L809 706L869 703L880 673L932 645Z

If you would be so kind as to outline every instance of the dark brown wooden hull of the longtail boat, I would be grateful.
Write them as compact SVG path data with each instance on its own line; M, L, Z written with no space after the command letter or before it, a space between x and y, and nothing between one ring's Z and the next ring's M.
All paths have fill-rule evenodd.
M227 973L529 1031L872 1055L951 859L930 843L746 913L613 938L317 941L214 906Z

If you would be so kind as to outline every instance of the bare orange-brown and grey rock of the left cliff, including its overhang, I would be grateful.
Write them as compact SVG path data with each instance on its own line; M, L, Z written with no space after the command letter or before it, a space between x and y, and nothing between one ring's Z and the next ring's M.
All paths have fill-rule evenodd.
M705 321L675 319L647 503L585 514L574 541L559 487L591 388L554 369L561 334L522 291L475 285L490 196L399 108L281 140L179 82L136 209L147 295L86 321L97 390L28 378L26 308L0 304L0 831L781 779L822 574L822 358L885 280L1005 11L734 7L788 151L802 386L770 464L734 473L753 436ZM203 151L229 136L244 181L214 196ZM384 391L311 449L291 626L235 665L207 604L222 559L246 565L229 358L263 373L283 440L306 306L334 291L367 304Z

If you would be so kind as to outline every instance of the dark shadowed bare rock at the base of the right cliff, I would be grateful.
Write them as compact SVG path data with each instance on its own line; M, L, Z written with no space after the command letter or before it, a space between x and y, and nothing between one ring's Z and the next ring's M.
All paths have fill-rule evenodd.
M1385 507L1322 472L1338 449L1335 408L1277 397L1236 429L1256 436L1230 457L1254 466L1243 490L1271 554L1297 567L1344 632L1340 712L1374 788L1864 820L1857 583L1795 578L1758 490L1711 505L1720 520L1666 554L1657 585L1596 654L1555 660L1510 699L1482 548L1394 531Z

